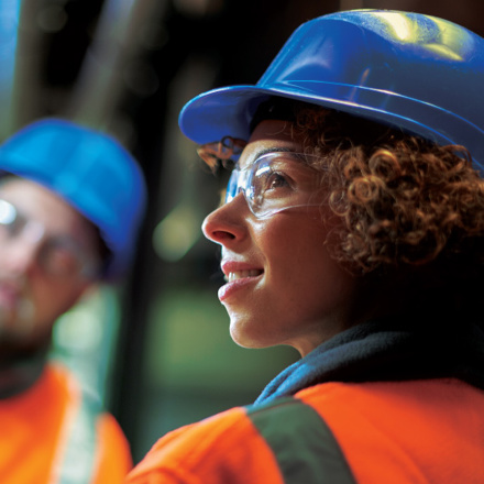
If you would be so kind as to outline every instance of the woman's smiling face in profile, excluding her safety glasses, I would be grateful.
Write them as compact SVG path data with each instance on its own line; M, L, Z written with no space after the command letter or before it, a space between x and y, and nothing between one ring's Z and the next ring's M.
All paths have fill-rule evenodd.
M300 153L289 123L263 121L240 158L250 166L262 152ZM308 168L309 170L309 168ZM210 213L204 233L221 245L230 280L219 299L230 316L232 339L246 348L287 344L301 355L352 326L355 279L329 256L328 228L318 206L256 218L243 194Z

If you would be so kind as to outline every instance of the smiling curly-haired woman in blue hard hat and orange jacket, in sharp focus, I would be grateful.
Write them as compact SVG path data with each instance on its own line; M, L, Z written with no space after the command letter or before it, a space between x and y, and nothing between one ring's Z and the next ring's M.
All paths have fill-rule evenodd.
M394 13L428 34L429 18ZM182 113L186 133L205 120L190 135L196 141L221 130L229 136L202 143L204 160L235 162L226 204L204 223L206 237L221 245L227 284L219 298L232 338L249 348L289 344L302 358L253 406L161 439L130 482L482 481L484 180L475 166L483 133L466 138L459 110L446 130L432 124L428 100L417 95L428 73L440 76L442 59L416 54L420 44L402 47L381 19L365 11L309 22L257 89L212 91ZM388 56L407 48L415 68L427 59L427 79L414 70L414 97L406 91L414 118L403 116L400 98L384 109L376 86L367 97L371 74L355 76L364 85L346 94L341 69L331 79L312 70L311 96L311 79L299 95L276 86L274 70L289 73L292 82L298 68L308 76L300 59L315 52L324 65L322 51L312 48L317 35L338 62L354 67L354 53L334 55L349 24L366 35L352 45L371 51L377 42ZM302 55L294 43L311 45ZM457 82L447 68L449 84ZM336 78L343 94L330 87ZM398 79L393 88L396 98ZM471 140L465 147L463 140Z

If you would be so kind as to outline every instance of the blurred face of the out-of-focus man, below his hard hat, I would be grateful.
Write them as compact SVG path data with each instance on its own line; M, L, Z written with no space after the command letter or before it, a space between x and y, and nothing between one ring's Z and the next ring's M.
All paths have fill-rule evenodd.
M98 235L66 201L26 179L0 185L2 210L0 343L35 344L91 284L78 266L98 256Z

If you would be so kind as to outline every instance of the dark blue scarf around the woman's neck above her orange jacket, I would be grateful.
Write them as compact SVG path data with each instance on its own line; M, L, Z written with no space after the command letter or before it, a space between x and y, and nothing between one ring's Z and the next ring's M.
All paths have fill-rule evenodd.
M255 404L324 382L437 377L457 377L484 389L484 331L477 324L400 318L355 326L283 371Z

